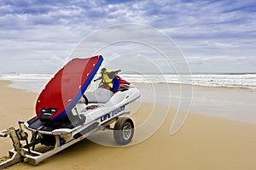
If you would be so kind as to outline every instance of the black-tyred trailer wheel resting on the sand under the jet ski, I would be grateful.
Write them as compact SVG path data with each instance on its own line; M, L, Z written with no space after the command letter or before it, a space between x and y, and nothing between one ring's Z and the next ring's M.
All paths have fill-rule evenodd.
M134 123L128 117L120 117L113 127L113 138L117 144L125 145L131 142L134 134Z

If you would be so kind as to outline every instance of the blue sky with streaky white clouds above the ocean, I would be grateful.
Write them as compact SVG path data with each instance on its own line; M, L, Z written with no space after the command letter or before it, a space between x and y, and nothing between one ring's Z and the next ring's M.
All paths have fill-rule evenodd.
M256 72L254 0L1 0L0 73L54 73L84 38L126 23L170 37L192 72Z

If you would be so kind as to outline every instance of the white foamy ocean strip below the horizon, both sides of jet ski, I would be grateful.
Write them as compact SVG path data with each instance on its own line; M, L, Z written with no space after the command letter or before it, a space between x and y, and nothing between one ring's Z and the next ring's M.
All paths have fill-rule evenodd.
M40 93L53 74L1 74L0 80L9 80L12 88ZM222 88L256 88L256 73L251 74L120 74L128 82L183 83Z

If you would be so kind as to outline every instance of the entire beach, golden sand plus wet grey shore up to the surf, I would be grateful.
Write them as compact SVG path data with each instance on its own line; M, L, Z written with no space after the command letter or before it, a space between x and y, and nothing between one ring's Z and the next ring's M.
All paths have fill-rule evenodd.
M33 116L38 94L22 89L9 88L8 81L0 81L0 129L15 126L19 120ZM158 85L157 90L161 89ZM147 93L149 86L137 87ZM170 135L170 127L178 109L177 85L170 85L171 105L161 105L165 100L151 100L143 96L132 115L136 127L142 127L152 109L166 113L162 125L143 142L143 129L135 129L133 144L128 147L106 147L84 139L55 156L32 166L20 162L8 169L255 169L256 122L255 90L242 88L194 88L194 103L183 126ZM160 92L160 94L163 92ZM209 98L207 98L209 96ZM254 99L254 100L253 100ZM214 113L216 114L214 115ZM230 113L238 116L231 116ZM246 118L241 118L247 114ZM250 117L252 118L250 119ZM160 120L161 122L161 120ZM147 125L147 124L146 124ZM148 126L150 123L148 123ZM112 133L102 139L113 142ZM6 156L12 148L10 139L0 139L0 156Z

